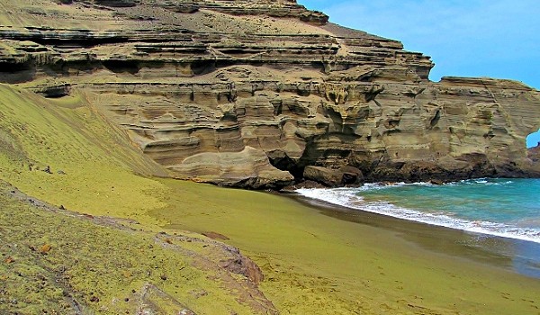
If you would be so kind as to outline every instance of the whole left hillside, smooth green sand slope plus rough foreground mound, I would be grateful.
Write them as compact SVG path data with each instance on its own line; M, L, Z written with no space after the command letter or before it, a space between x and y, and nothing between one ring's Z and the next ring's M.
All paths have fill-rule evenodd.
M83 92L0 85L0 314L272 311L236 248L157 233L165 175Z

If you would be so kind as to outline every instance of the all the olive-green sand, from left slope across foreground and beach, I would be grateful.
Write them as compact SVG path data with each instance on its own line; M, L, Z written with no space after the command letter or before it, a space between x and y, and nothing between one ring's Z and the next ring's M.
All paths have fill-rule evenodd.
M265 313L256 307L265 296L282 314L540 312L538 279L510 270L507 258L459 246L466 238L459 232L374 216L358 223L343 220L354 213L287 195L152 176L165 170L106 123L89 95L45 100L5 85L0 92L0 179L52 208L86 214L14 199L3 185L0 297L18 303L0 304L0 311L53 310L67 290L84 303L83 313L123 313L133 309L118 301L135 301L151 283L197 314ZM138 223L119 228L85 219L97 216ZM257 263L264 295L240 285L243 275L217 276L209 261L225 254L219 242L198 234L209 232ZM193 242L167 237L175 233ZM41 255L48 244L50 253ZM193 257L208 261L193 264ZM156 266L166 275L147 273ZM58 288L58 276L65 286ZM52 288L30 294L34 281Z

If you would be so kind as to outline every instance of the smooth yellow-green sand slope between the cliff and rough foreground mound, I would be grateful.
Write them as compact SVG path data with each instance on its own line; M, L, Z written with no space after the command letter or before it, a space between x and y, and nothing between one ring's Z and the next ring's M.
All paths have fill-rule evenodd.
M166 171L94 111L85 94L58 99L0 85L0 179L69 210L145 220Z

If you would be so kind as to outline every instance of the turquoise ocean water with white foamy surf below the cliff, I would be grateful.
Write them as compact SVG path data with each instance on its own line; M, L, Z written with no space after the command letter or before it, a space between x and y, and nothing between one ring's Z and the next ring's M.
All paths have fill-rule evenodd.
M303 196L452 229L540 243L540 179L299 189Z

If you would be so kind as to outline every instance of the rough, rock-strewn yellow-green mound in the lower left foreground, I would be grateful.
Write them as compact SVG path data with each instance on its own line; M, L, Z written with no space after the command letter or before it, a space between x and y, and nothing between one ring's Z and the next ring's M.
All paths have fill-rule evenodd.
M255 312L219 268L193 266L212 244L184 236L178 247L134 227L59 211L0 181L0 314Z

